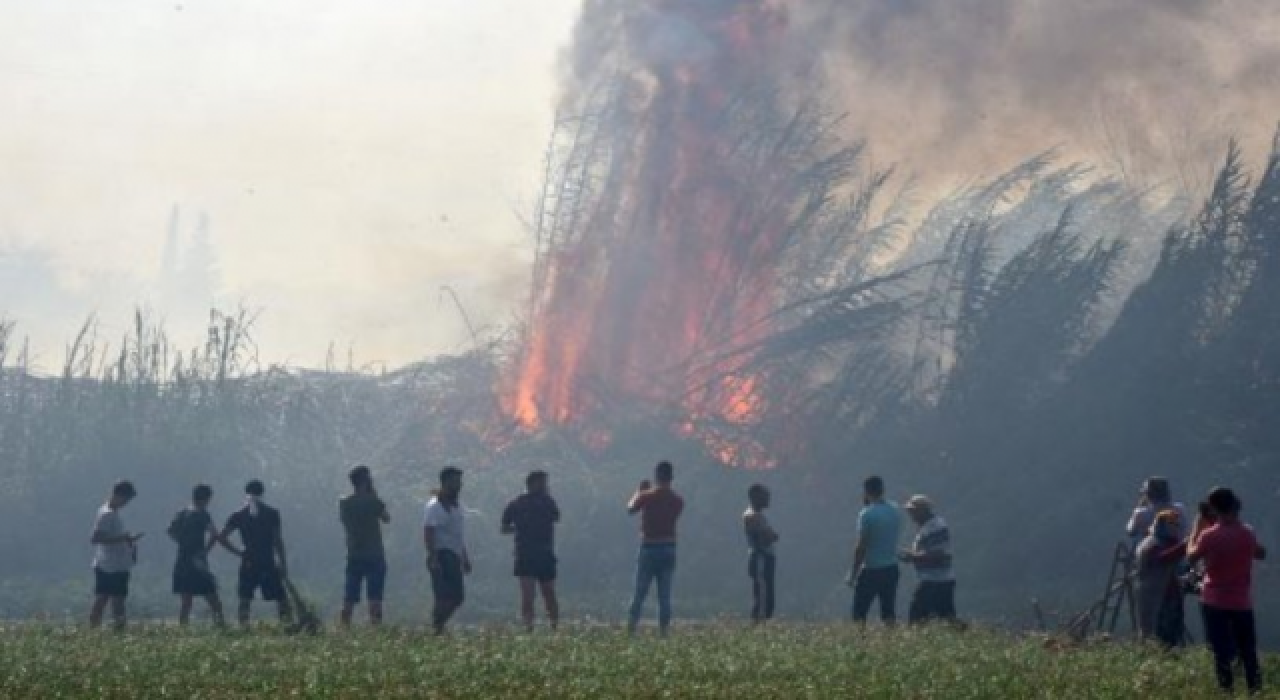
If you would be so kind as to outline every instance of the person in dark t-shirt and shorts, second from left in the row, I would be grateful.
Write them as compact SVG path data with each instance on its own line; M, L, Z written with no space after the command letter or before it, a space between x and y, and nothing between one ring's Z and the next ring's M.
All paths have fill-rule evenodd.
M178 624L186 626L191 619L191 604L195 596L209 603L214 623L227 624L223 617L223 601L218 596L218 580L209 568L209 553L215 544L221 544L237 557L238 549L218 534L214 518L209 514L209 502L214 490L200 484L191 493L191 505L178 511L169 523L169 537L178 544L178 559L173 564L173 593L182 600L178 609Z

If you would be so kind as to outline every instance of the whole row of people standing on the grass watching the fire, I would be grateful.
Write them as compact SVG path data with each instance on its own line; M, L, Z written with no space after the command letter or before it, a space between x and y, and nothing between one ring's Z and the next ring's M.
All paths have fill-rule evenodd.
M422 544L433 591L431 627L443 633L449 619L466 600L466 577L471 573L467 552L466 509L461 505L462 471L445 467L439 488L426 503L422 518ZM383 594L387 582L387 554L383 526L390 523L387 504L379 498L369 467L357 466L348 473L351 494L339 500L338 520L346 531L347 566L343 590L342 626L349 626L361 599L367 600L372 624L383 621ZM657 587L658 631L666 636L672 621L672 586L676 571L677 523L685 502L676 491L675 467L660 462L653 481L641 481L626 504L640 518L640 545L636 554L635 589L627 614L627 631L635 633L652 587ZM863 484L864 507L858 516L858 535L847 584L852 587L851 617L865 623L874 605L884 624L897 619L900 567L915 571L916 587L911 596L910 623L954 621L956 618L956 577L952 566L951 531L925 495L911 497L901 508L884 497L884 481L878 476ZM239 558L237 582L238 619L247 626L255 596L275 603L282 621L292 617L285 590L288 564L280 513L262 500L261 481L244 488L246 503L228 517L219 530L209 513L212 489L197 485L191 504L179 511L168 535L177 544L173 567L173 593L179 596L179 623L187 624L193 600L207 603L215 623L224 624L218 581L209 567L209 554L223 546ZM128 481L116 482L99 509L91 543L95 546L95 599L90 624L100 627L110 607L116 627L125 624L125 599L129 573L137 563L137 541L120 516L137 493ZM742 513L746 539L746 573L751 586L750 617L763 623L773 617L776 601L777 545L780 535L767 511L772 494L762 484L746 493ZM1234 665L1244 667L1251 690L1261 687L1257 633L1252 601L1252 566L1265 557L1253 530L1240 520L1242 503L1225 488L1213 489L1199 504L1189 531L1187 508L1175 502L1167 480L1148 479L1138 507L1129 520L1132 572L1137 585L1137 619L1143 639L1158 640L1166 648L1181 646L1187 639L1183 598L1199 595L1206 637L1213 653L1220 685L1234 683ZM915 536L900 548L902 513L916 526ZM520 585L520 613L532 630L539 594L552 628L559 623L556 594L556 527L561 512L550 494L549 476L529 473L525 493L504 508L500 531L515 540L513 575ZM239 545L233 541L238 535Z

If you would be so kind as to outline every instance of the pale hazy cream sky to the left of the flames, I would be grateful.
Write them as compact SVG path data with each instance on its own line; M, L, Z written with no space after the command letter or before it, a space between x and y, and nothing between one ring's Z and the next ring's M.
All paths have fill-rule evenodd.
M67 310L5 293L0 316L46 365L91 311L122 331L164 303L134 297L177 205L187 232L207 212L221 297L264 310L268 358L457 349L440 285L481 324L524 292L518 214L577 4L0 0L0 259L47 251Z

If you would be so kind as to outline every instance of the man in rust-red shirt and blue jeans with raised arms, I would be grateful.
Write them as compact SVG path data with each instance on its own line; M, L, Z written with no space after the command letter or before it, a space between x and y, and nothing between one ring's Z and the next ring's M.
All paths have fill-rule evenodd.
M671 462L659 462L654 467L657 486L650 488L648 480L640 482L640 489L627 503L627 512L640 513L640 554L636 557L635 595L631 598L631 614L627 618L627 632L634 635L644 612L649 586L658 582L658 628L667 636L671 627L671 584L676 573L676 521L685 511L685 500L680 498L671 482L676 470Z

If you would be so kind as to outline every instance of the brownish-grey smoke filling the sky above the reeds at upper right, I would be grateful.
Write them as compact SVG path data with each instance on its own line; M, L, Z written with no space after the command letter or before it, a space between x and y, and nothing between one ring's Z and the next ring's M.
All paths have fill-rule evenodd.
M818 58L850 129L915 169L972 175L1062 147L1193 187L1228 136L1262 145L1280 118L1268 0L786 5L796 55Z

